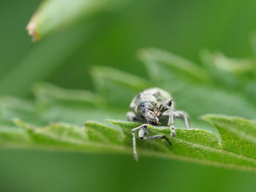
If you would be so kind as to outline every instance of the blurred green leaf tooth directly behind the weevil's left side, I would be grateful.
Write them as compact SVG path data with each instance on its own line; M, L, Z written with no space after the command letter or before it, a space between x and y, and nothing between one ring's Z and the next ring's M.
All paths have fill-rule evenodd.
M91 77L96 91L111 107L129 106L130 99L135 94L151 86L151 83L142 77L105 66L91 68Z

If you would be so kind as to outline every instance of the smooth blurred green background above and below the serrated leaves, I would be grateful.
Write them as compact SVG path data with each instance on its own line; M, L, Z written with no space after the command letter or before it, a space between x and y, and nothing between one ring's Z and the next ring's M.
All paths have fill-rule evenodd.
M25 27L40 2L0 2L1 94L31 99L31 85L42 80L93 90L93 65L146 77L136 57L142 47L195 62L204 47L254 57L256 1L133 1L91 18L90 25L80 20L33 43ZM255 191L254 180L255 173L176 160L142 157L135 163L125 155L0 150L0 191Z

